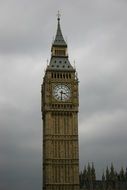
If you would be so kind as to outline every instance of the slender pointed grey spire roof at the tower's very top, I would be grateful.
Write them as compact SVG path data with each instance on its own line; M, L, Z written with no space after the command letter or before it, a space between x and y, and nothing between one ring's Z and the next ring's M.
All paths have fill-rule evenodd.
M60 14L58 12L58 24L57 24L57 32L56 32L56 37L55 40L52 44L52 46L64 46L67 47L67 43L65 42L62 32L61 32L61 27L60 27Z

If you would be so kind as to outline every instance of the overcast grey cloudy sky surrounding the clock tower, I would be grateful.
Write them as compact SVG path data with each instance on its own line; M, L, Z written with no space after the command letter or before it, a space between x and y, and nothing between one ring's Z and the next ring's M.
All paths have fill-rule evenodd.
M127 166L127 1L0 1L0 189L41 189L41 83L57 11L80 85L80 169Z

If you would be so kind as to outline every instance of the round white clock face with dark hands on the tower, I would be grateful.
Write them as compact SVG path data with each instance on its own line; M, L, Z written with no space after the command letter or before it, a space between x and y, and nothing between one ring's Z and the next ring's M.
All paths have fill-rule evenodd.
M59 101L67 101L71 97L70 88L67 85L58 84L53 88L53 97Z

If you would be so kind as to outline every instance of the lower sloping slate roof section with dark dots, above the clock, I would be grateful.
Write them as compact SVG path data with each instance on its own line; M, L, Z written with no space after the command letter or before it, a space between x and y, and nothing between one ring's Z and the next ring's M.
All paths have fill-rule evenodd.
M50 70L65 70L72 71L74 68L70 64L68 57L51 57L50 64L48 65Z

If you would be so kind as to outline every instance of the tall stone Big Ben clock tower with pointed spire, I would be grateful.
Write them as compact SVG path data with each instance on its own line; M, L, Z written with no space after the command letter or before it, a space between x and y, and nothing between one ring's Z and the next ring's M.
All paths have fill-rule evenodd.
M78 78L57 20L41 90L43 190L79 190Z

